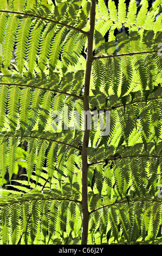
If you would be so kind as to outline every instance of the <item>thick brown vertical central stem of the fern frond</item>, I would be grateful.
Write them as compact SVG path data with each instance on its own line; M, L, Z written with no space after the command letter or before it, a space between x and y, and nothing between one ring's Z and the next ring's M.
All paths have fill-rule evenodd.
M93 62L93 39L94 39L94 26L95 26L95 5L96 0L92 0L90 9L90 24L88 33L88 46L87 46L87 62L86 62L86 74L85 74L85 86L83 95L83 108L84 111L89 111L89 86L90 86L90 75L92 70ZM88 238L88 191L87 191L87 173L88 173L88 157L87 148L89 144L89 130L87 125L87 119L85 120L85 134L82 145L82 240L81 244L87 244Z

